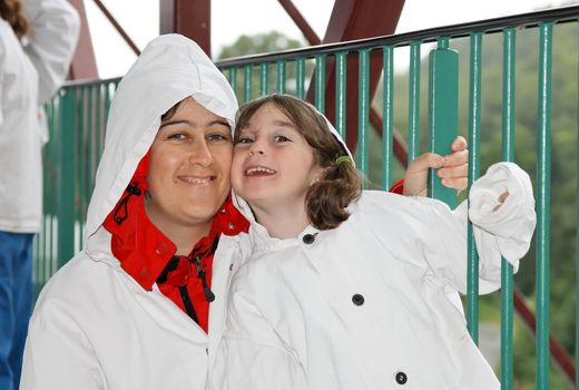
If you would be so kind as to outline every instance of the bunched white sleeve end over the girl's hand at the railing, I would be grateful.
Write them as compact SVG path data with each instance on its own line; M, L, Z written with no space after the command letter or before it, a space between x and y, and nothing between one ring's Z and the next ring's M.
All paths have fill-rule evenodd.
M504 192L509 196L494 211ZM517 164L497 163L472 185L469 202L481 263L500 281L501 255L517 272L531 244L537 222L531 179Z

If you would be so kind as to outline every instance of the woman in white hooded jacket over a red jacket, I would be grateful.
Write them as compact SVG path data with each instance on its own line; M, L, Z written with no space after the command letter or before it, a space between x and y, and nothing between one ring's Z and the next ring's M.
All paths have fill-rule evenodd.
M189 39L163 36L143 51L110 108L85 250L35 308L22 389L205 387L246 227L226 202L236 109Z

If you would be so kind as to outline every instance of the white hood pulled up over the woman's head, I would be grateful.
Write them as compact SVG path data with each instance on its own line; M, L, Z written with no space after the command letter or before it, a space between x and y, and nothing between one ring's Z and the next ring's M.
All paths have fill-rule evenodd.
M186 97L234 127L237 100L205 52L188 38L155 38L120 81L107 121L105 149L88 206L85 247L112 211L160 125L160 116Z

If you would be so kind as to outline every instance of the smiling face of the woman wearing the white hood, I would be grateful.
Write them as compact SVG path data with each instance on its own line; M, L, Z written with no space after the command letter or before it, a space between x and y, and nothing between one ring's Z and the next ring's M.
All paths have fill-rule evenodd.
M161 231L209 224L229 193L232 131L194 99L161 123L150 148L146 211Z

